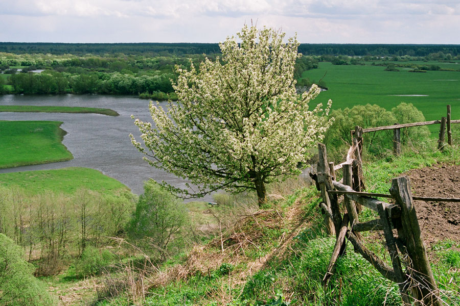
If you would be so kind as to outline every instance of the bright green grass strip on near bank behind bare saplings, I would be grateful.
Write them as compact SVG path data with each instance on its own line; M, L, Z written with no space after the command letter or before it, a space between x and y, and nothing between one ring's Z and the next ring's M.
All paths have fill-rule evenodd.
M52 191L72 194L79 189L110 193L120 189L128 189L119 181L102 174L98 170L78 167L1 173L0 185L20 187L30 193Z

